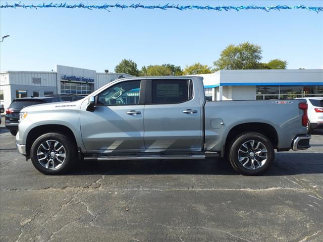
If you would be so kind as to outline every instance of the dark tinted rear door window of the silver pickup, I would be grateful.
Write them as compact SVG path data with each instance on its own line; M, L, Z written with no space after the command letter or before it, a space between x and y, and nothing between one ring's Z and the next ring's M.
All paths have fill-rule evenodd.
M152 80L151 103L181 103L191 99L189 80Z

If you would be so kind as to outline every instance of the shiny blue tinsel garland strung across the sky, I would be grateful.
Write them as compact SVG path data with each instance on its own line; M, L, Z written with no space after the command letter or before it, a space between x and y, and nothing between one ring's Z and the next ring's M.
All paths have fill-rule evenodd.
M24 9L44 9L44 8L65 8L65 9L88 9L88 10L107 10L109 9L160 9L160 10L168 10L168 9L176 9L176 10L209 10L209 11L229 11L229 10L235 10L235 11L241 11L241 10L264 10L266 12L272 11L272 10L290 10L290 9L301 9L301 10L309 10L309 11L315 11L316 13L323 11L323 7L306 7L304 5L299 6L286 6L286 5L277 5L277 6L218 6L218 7L212 7L210 5L208 6L198 6L198 5L188 5L188 6L182 6L182 5L176 5L176 4L166 4L166 5L143 5L143 4L131 4L131 5L123 5L123 4L103 4L103 5L87 5L87 4L6 4L1 5L0 8L2 9L8 9L8 8L24 8ZM110 12L110 11L109 11Z

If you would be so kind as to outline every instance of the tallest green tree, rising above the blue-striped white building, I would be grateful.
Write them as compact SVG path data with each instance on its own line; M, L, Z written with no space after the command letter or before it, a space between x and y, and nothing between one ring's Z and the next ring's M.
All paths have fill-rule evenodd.
M259 69L261 53L261 47L256 44L230 44L222 50L220 58L213 64L216 70Z

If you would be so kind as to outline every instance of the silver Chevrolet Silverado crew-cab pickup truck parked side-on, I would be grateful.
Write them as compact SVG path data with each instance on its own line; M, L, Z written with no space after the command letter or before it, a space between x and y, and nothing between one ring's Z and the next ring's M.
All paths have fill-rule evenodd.
M202 78L136 77L21 110L17 149L44 174L84 160L221 156L245 175L309 148L306 100L205 101Z

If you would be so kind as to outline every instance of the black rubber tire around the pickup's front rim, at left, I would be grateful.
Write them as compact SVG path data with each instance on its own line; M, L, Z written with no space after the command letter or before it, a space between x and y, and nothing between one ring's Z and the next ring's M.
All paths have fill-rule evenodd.
M57 142L59 142L60 145L63 146L64 152L65 152L64 153L65 160L63 161L63 163L58 162L58 159L54 158L54 160L52 160L48 164L49 167L50 167L50 165L52 165L52 168L46 168L43 165L44 165L44 162L47 161L47 158L45 159L44 162L38 160L39 158L43 158L43 157L38 156L37 151L38 151L38 149L42 149L42 148L40 148L40 146L41 146L41 144L44 144L46 141L48 141L48 143L50 144L51 147L54 147L56 144L56 142L53 142L53 141L57 141ZM48 144L48 143L46 143L46 144ZM52 145L52 143L54 145ZM50 151L56 152L56 150L53 150L53 149L51 150L50 146L49 146L49 152ZM44 147L44 146L42 146L42 147ZM47 146L46 146L46 148L47 148ZM56 148L58 148L58 147L56 147ZM55 149L55 147L54 147L54 149ZM60 151L58 151L58 152L60 152ZM45 154L42 154L42 155L46 156ZM59 156L59 154L57 156ZM44 134L44 135L41 135L40 137L38 137L35 140L35 142L32 144L31 150L30 150L30 158L31 158L31 161L32 161L32 164L34 165L34 167L38 171L40 171L41 173L44 173L46 175L64 174L68 170L70 170L72 168L73 164L77 161L76 144L75 144L75 142L73 142L73 140L71 138L67 137L64 134L47 133L47 134ZM61 159L63 160L64 158L61 157ZM54 165L58 165L58 167L55 168Z

